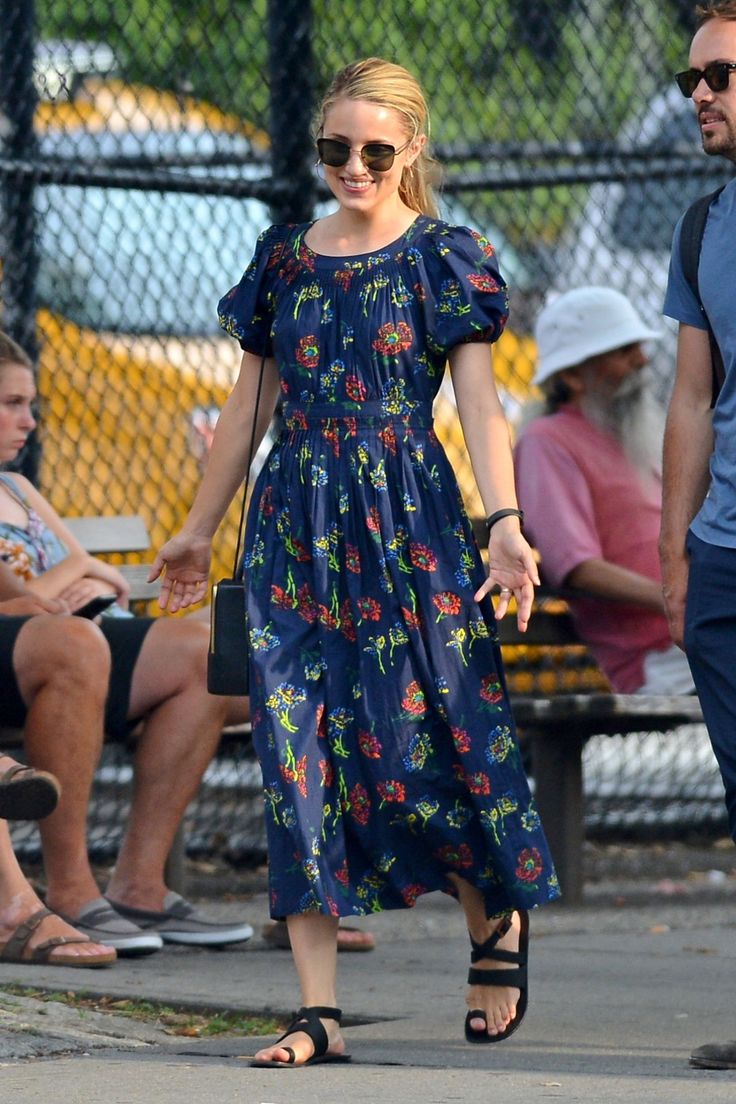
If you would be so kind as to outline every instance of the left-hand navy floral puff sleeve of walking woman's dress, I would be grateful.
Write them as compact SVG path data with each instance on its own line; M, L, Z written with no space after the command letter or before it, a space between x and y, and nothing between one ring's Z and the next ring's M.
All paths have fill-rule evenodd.
M222 328L236 338L246 352L273 353L270 329L274 317L275 273L284 250L286 226L269 226L258 237L250 264L239 284L217 304Z

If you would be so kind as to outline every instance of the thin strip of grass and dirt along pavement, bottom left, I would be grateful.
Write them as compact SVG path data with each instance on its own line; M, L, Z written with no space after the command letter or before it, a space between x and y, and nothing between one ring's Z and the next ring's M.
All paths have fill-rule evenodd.
M204 1039L211 1036L267 1036L280 1033L280 1020L267 1016L252 1016L215 1009L193 1009L163 1005L157 1000L137 1000L131 997L94 996L79 990L61 991L36 989L25 985L3 985L0 991L13 997L32 997L34 1000L57 1001L85 1011L127 1016L145 1023L158 1023L167 1034Z

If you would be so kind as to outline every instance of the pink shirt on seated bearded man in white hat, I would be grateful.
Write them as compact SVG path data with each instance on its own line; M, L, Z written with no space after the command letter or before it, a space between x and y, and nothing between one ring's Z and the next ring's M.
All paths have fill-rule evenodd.
M531 422L514 450L524 531L542 556L546 582L559 586L586 560L607 560L660 580L659 480L644 478L616 438L566 406ZM618 602L569 603L580 637L614 690L633 693L650 651L672 644L663 614Z

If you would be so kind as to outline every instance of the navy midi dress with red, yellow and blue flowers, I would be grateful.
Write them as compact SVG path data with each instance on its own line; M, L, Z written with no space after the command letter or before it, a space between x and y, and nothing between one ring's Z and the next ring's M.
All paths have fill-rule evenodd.
M218 306L281 385L245 554L271 915L406 907L448 872L489 915L542 904L558 883L431 423L448 351L503 329L493 247L422 215L329 257L309 225L262 234Z

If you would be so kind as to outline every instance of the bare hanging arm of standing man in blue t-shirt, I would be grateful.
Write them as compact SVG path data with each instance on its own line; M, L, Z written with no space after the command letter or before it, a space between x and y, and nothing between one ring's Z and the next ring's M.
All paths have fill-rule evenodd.
M708 490L712 367L705 330L680 323L678 372L664 431L660 560L670 633L682 647L689 562L685 538Z

